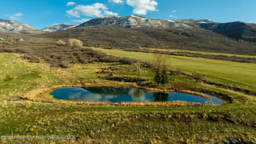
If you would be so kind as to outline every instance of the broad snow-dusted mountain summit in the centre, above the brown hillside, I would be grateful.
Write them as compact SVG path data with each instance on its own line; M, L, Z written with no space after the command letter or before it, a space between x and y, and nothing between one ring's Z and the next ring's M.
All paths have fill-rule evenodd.
M94 26L94 25L110 25L110 26L132 26L132 27L150 27L150 28L192 28L187 24L184 24L178 20L162 20L144 18L141 16L112 16L112 17L100 17L94 18L80 26Z

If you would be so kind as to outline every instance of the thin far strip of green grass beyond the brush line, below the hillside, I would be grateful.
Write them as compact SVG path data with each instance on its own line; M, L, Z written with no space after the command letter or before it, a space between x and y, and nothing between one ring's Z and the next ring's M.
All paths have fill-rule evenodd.
M142 48L144 49L144 48ZM209 55L224 55L224 56L238 56L238 57L245 57L245 58L256 58L256 56L246 56L246 55L239 55L239 54L224 54L224 53L214 53L214 52L199 52L193 50L171 50L171 49L162 49L162 48L145 48L146 50L159 50L162 52L189 52L195 54L209 54Z

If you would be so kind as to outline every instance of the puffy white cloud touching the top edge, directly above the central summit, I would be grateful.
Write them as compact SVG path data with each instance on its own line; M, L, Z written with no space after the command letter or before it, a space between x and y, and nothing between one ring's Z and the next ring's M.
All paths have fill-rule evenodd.
M134 14L147 14L148 11L158 11L156 6L158 3L155 0L126 0L126 4L132 6Z

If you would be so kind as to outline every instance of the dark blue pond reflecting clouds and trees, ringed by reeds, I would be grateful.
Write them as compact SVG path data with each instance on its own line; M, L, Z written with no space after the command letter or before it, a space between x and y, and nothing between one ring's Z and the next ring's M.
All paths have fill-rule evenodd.
M62 100L78 100L89 102L171 102L171 101L187 101L200 102L206 104L219 105L223 101L220 98L209 96L212 100L195 96L191 94L183 94L178 92L151 92L140 90L137 88L113 88L107 86L96 87L80 87L80 88L60 88L50 92L56 99Z

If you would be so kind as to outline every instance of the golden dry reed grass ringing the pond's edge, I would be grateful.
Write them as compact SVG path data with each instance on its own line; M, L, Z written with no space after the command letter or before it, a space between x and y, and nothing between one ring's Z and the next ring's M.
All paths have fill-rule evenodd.
M74 100L54 100L54 99L48 99L42 97L43 94L58 89L58 88L71 88L71 87L82 87L82 86L100 86L100 85L110 85L110 84L116 84L116 85L129 85L134 88L139 88L143 90L149 90L149 91L157 91L157 92L175 92L174 90L161 90L157 88L148 88L148 87L142 87L138 86L136 83L132 82L106 82L106 83L85 83L85 84L76 84L76 85L58 85L58 86L51 86L48 88L39 88L36 90L32 90L28 92L27 94L24 94L21 98L31 100L34 102L49 102L53 104L69 104L69 105L82 105L82 106L202 106L202 103L198 102L186 102L186 101L172 101L172 102L148 102L148 103L138 103L138 102L121 102L121 103L113 103L113 102L79 102ZM193 94L197 96L201 96L204 98L210 99L205 94L194 92L190 90L180 90L179 92L186 93L186 94Z

